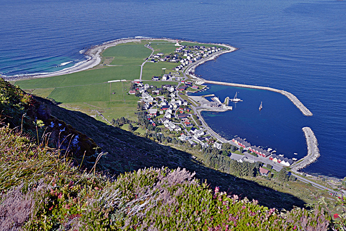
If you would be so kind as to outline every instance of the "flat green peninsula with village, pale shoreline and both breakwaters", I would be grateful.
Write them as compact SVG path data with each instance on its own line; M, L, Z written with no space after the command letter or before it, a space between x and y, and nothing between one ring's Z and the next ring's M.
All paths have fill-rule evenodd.
M80 110L108 124L121 125L123 129L129 128L117 122L119 118L139 120L145 125L136 128L139 135L145 135L147 129L169 136L173 133L173 137L191 146L218 150L222 149L223 143L229 143L248 151L244 156L247 160L255 158L273 165L276 170L291 165L298 170L312 163L319 156L318 150L314 149L314 155L305 157L298 167L299 161L278 156L244 139L226 140L205 123L200 111L225 111L232 110L232 107L228 106L228 99L222 103L215 96L210 102L205 97L186 94L207 88L204 83L277 92L289 98L305 116L312 116L289 92L264 86L208 81L194 74L198 65L235 50L237 48L218 43L126 38L91 47L85 51L88 60L78 66L50 74L25 76L28 79L10 77L8 80L29 93L51 98L62 103L63 107ZM136 110L141 112L141 116L134 113ZM309 131L311 135L306 135L307 143L312 139L317 144L312 130Z

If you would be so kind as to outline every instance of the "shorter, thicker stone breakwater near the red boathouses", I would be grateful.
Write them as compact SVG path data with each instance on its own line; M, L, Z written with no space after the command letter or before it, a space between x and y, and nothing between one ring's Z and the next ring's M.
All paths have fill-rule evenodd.
M304 127L303 129L306 145L307 145L307 155L301 159L301 161L292 167L292 170L299 171L300 169L313 163L320 157L319 143L315 137L315 134L309 127Z

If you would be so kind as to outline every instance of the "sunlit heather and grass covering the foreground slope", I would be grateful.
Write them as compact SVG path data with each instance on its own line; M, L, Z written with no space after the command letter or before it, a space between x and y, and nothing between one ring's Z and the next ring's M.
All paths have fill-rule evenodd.
M200 184L185 169L112 181L0 128L0 230L327 230L323 210L287 213Z

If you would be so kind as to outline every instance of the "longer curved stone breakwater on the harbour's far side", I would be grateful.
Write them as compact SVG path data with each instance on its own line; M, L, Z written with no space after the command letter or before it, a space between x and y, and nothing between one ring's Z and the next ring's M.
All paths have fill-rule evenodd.
M212 84L219 84L219 85L228 85L228 86L238 86L240 88L252 88L252 89L261 89L261 90L267 90L271 92L277 92L280 93L287 98L289 98L294 105L304 114L304 116L311 117L312 113L309 109L307 109L302 102L299 101L299 99L293 95L290 92L286 92L283 90L278 90L274 88L268 88L266 86L254 86L254 85L247 85L247 84L239 84L239 83L230 83L230 82L217 82L217 81L209 81L209 80L203 80L205 83L212 83Z

